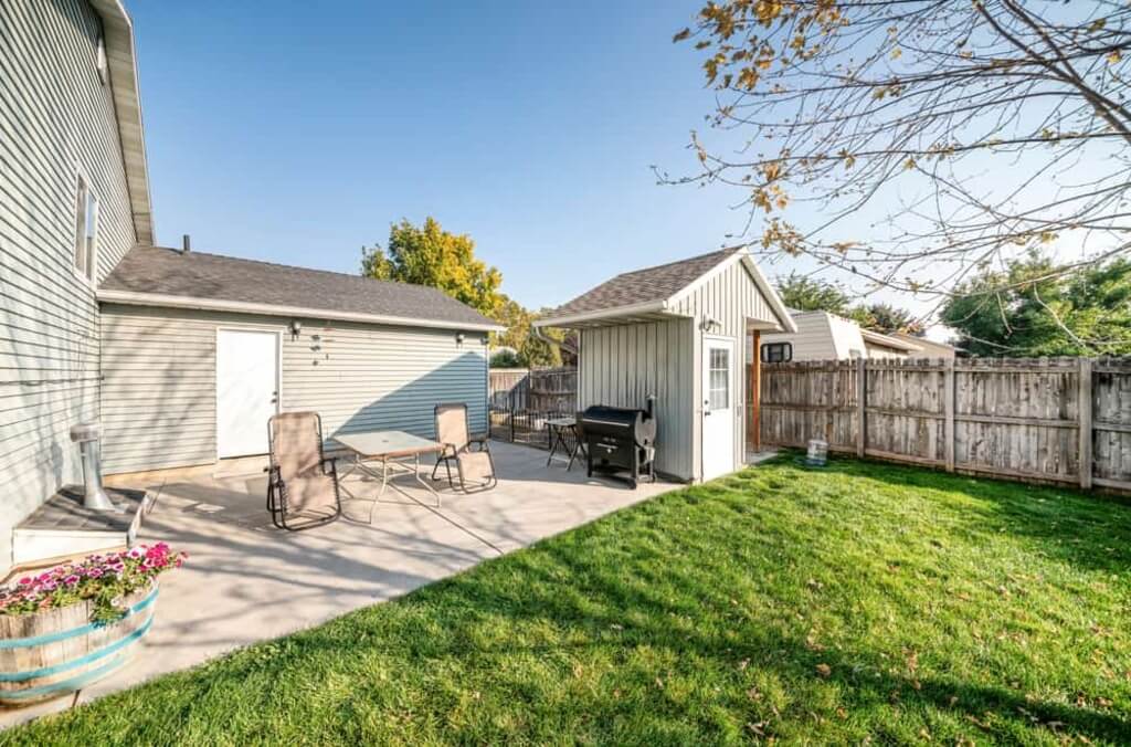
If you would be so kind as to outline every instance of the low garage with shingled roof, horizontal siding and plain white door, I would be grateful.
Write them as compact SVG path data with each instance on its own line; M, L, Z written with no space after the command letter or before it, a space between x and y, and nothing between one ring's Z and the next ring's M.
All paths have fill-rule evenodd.
M327 437L432 437L435 404L463 402L487 428L501 327L435 289L135 247L98 301L107 473L265 454L284 411L318 411Z

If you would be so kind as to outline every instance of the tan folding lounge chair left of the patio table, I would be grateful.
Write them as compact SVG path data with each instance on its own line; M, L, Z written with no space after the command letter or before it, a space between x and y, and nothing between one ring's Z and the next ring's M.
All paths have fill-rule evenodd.
M322 454L322 419L317 412L286 412L267 423L270 466L267 510L279 529L296 532L342 516L338 470Z

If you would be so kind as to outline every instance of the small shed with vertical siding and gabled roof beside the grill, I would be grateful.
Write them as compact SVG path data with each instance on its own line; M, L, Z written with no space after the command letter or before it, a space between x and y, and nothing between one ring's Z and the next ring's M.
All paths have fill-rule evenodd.
M624 273L535 323L579 330L578 405L641 407L656 396L656 469L698 481L739 469L746 450L748 404L756 400L742 364L745 338L762 330L795 332L777 293L743 249ZM710 349L729 350L727 407L713 406L705 376ZM718 357L717 357L718 358ZM719 369L724 370L724 369ZM708 370L709 374L709 370ZM719 457L705 424L725 410L728 453ZM716 414L710 421L711 413ZM757 410L756 410L757 412Z

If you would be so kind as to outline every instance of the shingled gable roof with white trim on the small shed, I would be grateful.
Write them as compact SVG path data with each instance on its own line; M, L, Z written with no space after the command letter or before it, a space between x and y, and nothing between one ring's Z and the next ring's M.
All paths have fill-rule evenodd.
M579 321L595 321L620 317L648 318L663 314L681 297L733 263L746 265L754 283L766 298L783 327L791 327L793 319L777 292L766 281L750 254L742 247L722 249L689 259L621 273L601 285L586 291L572 301L549 311L534 323L536 327L564 326Z

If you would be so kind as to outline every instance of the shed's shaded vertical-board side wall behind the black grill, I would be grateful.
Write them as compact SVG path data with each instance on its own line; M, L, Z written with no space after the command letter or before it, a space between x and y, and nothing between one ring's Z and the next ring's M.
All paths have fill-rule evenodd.
M581 330L578 404L642 407L656 395L656 469L682 480L692 471L690 319Z

